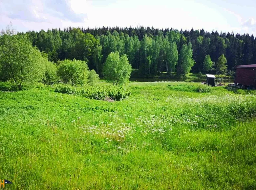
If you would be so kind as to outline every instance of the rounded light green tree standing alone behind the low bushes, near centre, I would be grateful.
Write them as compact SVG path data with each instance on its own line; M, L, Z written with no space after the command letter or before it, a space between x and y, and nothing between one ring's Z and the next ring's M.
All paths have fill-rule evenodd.
M113 81L113 85L123 84L129 80L132 67L127 55L119 56L119 52L111 52L103 67L103 75L106 80Z

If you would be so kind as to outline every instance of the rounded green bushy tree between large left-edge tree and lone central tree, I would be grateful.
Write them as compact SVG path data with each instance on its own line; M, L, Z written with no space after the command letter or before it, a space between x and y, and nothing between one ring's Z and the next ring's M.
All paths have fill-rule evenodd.
M57 62L57 75L64 84L84 85L87 83L89 68L85 61L63 60Z

